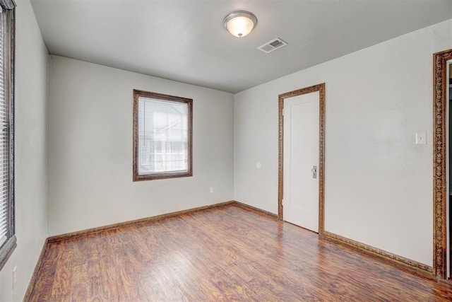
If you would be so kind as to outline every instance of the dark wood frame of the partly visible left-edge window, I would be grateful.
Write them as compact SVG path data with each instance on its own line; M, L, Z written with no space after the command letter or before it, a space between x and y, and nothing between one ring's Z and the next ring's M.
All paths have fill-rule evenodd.
M1 68L4 69L4 89L6 108L8 111L8 122L3 131L8 132L8 201L6 214L6 240L0 246L0 269L4 267L6 261L16 248L16 229L14 217L14 42L15 42L15 6L12 0L0 0L3 10L1 21L4 22L4 62Z

